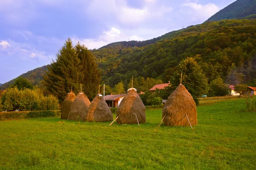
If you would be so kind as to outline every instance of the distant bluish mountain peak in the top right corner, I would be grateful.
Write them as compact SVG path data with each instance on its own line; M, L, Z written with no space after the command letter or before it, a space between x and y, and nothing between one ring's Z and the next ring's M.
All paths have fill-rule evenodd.
M236 0L207 21L256 18L256 0Z

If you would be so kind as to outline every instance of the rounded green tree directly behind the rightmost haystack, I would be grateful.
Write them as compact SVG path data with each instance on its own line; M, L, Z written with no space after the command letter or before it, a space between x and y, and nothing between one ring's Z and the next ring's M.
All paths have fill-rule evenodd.
M171 91L174 91L180 84L181 73L182 84L198 104L198 98L208 92L207 78L203 74L203 70L194 58L188 57L183 59L171 79Z

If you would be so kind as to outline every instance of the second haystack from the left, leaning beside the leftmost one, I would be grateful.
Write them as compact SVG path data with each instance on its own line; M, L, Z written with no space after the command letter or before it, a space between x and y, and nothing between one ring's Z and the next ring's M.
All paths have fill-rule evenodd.
M82 92L79 92L70 107L68 120L84 120L87 115L89 105L90 101L87 96Z

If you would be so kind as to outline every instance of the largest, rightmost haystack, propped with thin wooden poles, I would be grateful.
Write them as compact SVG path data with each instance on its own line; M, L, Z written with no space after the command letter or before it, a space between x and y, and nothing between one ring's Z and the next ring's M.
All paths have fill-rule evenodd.
M188 116L191 125L197 125L195 101L184 85L180 84L168 97L168 100L163 107L162 118L165 116L163 125L189 126L189 121L186 118L186 115Z

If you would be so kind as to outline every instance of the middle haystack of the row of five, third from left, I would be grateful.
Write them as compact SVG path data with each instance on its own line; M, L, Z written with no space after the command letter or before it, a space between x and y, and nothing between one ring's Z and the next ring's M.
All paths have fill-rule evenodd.
M97 95L91 102L86 120L88 122L108 122L113 120L113 115L104 97Z

